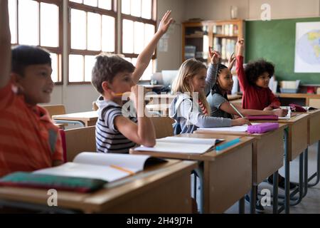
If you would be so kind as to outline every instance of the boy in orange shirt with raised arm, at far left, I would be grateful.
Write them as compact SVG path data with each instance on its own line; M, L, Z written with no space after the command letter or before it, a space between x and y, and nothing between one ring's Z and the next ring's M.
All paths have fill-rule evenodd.
M50 54L41 48L11 50L8 0L0 1L0 177L60 165L58 128L38 103L53 90Z

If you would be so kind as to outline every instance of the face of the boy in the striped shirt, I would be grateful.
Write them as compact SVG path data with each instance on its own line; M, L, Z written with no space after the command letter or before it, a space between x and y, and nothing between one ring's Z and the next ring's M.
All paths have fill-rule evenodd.
M109 83L110 95L114 97L122 97L122 95L116 95L120 93L131 92L131 88L134 86L134 81L132 81L132 73L129 72L119 72L114 76L112 83Z

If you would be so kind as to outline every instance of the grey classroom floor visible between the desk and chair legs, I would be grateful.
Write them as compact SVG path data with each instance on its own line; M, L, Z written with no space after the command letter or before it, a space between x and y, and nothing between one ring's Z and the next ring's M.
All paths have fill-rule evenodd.
M317 144L309 147L309 176L316 172L316 150ZM284 167L279 170L279 173L284 176ZM290 162L290 181L299 182L299 157L294 161ZM313 181L311 181L313 182ZM272 192L272 186L263 182L259 185L259 192L262 189L270 189ZM279 189L279 194L284 194L283 190ZM250 212L249 203L245 203L245 212ZM232 214L238 213L238 203L234 204L233 207L230 207L225 213ZM265 207L265 214L272 213L272 206ZM282 212L283 213L283 212ZM320 213L320 183L315 187L309 187L308 193L302 202L297 206L290 207L290 214L319 214Z

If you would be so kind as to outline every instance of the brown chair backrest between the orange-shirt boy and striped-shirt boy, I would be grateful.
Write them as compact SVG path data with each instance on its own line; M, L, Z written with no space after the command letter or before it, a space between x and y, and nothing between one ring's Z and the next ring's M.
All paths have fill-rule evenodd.
M95 126L65 130L65 145L68 162L80 152L96 152Z

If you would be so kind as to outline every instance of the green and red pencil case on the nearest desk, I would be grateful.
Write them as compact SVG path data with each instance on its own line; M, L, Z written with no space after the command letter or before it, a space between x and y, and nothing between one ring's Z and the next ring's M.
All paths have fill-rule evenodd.
M104 180L40 175L33 174L32 172L14 172L0 179L0 186L31 187L73 192L93 192L102 188L106 183Z

